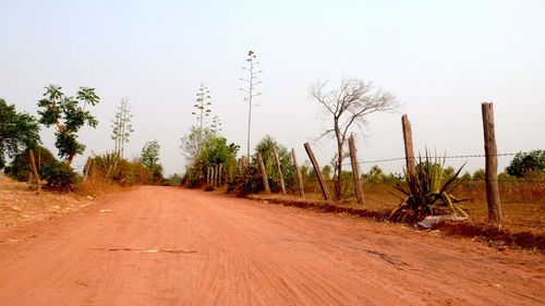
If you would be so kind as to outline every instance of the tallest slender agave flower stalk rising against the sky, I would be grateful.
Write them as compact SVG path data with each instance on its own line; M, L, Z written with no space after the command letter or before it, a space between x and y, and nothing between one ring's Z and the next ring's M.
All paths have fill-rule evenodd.
M262 93L256 91L257 85L262 84L257 79L257 75L263 71L258 70L259 62L257 61L257 56L254 51L250 50L246 57L246 65L242 69L247 72L247 77L241 77L240 81L244 82L246 87L239 88L246 94L244 101L247 103L247 146L246 146L246 157L250 157L250 135L252 130L252 108L258 106L254 102L256 96L262 95Z

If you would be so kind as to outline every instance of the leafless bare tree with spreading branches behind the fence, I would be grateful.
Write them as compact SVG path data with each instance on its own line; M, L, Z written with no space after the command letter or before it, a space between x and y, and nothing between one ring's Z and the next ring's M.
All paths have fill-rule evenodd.
M323 107L328 118L332 119L332 128L326 130L319 137L335 136L337 154L335 157L335 195L341 198L342 161L347 157L344 144L353 127L363 130L367 117L375 112L392 112L399 108L396 97L376 88L372 82L360 78L344 78L340 87L326 90L327 82L318 81L311 87L311 96Z

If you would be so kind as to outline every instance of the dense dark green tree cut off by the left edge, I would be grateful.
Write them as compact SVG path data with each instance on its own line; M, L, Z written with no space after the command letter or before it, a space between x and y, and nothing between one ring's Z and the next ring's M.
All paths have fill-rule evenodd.
M0 98L0 170L5 167L5 157L14 157L25 148L40 143L39 125L28 113L17 112L15 106Z

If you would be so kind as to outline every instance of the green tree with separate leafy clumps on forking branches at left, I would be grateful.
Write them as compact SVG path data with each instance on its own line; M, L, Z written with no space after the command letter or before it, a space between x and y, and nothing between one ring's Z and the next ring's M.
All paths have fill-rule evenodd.
M85 124L96 127L98 121L86 110L87 105L95 106L100 98L94 88L80 87L75 98L65 96L61 87L49 85L46 87L44 99L38 101L39 123L49 127L56 126L55 146L59 156L70 166L74 157L85 150L85 146L77 142L77 132Z

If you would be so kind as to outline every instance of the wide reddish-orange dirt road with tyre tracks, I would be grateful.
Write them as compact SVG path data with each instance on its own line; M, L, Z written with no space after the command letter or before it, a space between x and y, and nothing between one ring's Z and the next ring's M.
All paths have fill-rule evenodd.
M398 224L140 187L0 234L0 305L545 305L545 260Z

